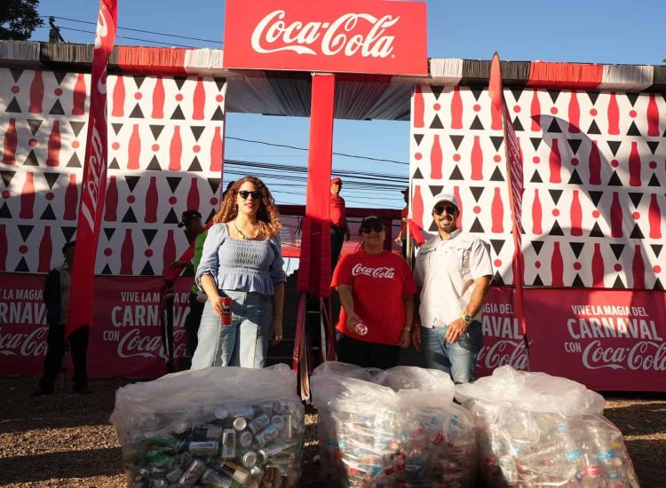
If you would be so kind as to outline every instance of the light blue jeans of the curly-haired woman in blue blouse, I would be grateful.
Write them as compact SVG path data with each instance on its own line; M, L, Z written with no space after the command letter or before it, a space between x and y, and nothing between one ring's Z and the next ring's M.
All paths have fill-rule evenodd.
M210 300L206 302L192 369L264 367L273 324L273 296L236 290L224 290L224 293L232 300L231 325L220 325Z

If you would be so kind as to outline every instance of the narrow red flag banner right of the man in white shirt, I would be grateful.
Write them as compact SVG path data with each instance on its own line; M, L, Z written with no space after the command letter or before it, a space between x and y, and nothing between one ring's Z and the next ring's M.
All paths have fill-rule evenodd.
M523 301L523 272L525 264L522 253L523 226L521 224L523 192L525 191L525 185L523 185L523 161L519 141L516 137L516 130L514 130L513 122L511 122L511 114L509 114L509 109L506 107L506 102L504 101L500 59L497 53L493 55L493 61L490 65L488 93L492 102L491 113L493 114L493 118L497 114L502 114L504 150L506 152L506 174L509 183L513 244L515 248L513 252L513 283L516 287L515 309L527 349L527 323L525 320L525 303Z

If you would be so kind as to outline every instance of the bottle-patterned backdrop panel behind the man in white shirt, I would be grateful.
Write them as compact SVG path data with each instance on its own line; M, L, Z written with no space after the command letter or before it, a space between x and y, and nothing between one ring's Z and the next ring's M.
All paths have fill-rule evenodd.
M666 96L504 90L524 161L528 286L663 289ZM503 133L485 89L416 87L412 213L426 231L443 187L464 230L492 248L495 281L512 284Z

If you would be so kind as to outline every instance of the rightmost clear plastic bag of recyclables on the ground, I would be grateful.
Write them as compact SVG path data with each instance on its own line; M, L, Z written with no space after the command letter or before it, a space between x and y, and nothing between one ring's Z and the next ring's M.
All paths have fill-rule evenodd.
M502 366L457 385L456 398L476 424L487 486L638 486L603 397L580 383Z

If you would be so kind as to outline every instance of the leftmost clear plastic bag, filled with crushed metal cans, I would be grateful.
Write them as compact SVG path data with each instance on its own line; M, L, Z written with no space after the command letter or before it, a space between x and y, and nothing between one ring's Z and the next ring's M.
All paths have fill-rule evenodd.
M210 367L119 389L111 415L129 486L297 485L305 431L295 377Z

